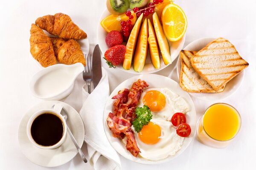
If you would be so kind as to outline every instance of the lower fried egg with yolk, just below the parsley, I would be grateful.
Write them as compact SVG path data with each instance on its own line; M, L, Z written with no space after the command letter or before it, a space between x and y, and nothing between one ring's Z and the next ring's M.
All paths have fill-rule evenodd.
M171 122L160 119L151 119L139 133L134 130L134 136L140 148L139 155L151 161L175 155L184 140L177 135L176 128Z

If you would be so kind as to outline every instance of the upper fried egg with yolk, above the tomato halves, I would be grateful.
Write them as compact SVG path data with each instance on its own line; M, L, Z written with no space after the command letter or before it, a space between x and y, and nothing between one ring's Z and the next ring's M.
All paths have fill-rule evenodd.
M172 116L181 112L186 114L189 105L183 97L168 88L148 88L143 91L138 107L147 105L153 114L153 119L170 121Z

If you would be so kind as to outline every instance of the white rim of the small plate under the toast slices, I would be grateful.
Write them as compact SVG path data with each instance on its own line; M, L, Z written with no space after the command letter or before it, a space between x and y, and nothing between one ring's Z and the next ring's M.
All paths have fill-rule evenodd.
M209 42L211 42L212 40L215 40L216 38L213 38L213 37L203 37L203 38L199 38L199 39L197 39L197 40L194 40L194 41L192 41L192 42L190 42L188 45L186 45L186 47L184 47L183 48L183 50L189 50L189 49L187 49L187 48L189 48L189 46L191 45L191 44L194 44L194 43L196 43L197 42L197 44L198 43L200 43L201 41L204 41L204 40L209 40ZM208 43L209 43L208 42ZM177 73L177 78L178 78L178 80L180 80L180 68L181 68L181 65L180 65L180 54L179 54L179 56L177 57L178 59L177 59L177 64L176 64L176 73ZM245 70L243 70L243 71L241 71L239 74L240 74L240 76L241 76L241 80L240 80L240 82L239 82L239 84L238 84L238 86L237 86L237 88L232 92L232 93L230 93L229 95L225 95L224 97L222 97L222 98L218 98L218 99L208 99L209 97L207 97L207 98L203 98L203 97L200 97L200 96L198 96L197 94L198 93L190 93L190 92L187 92L189 95L191 95L191 96L193 96L193 97L195 97L196 99L200 99L200 100L203 100L203 101L218 101L218 100L222 100L222 99L226 99L226 98L228 98L228 97L230 97L230 96L232 96L239 88L240 88L240 86L241 86L241 84L242 84L242 82L243 82L243 79L244 79L244 71ZM239 75L238 74L238 75ZM238 75L236 75L236 76L238 76ZM201 93L201 94L203 94L203 93ZM209 94L209 93L206 93L206 94ZM218 93L214 93L214 94L218 94Z

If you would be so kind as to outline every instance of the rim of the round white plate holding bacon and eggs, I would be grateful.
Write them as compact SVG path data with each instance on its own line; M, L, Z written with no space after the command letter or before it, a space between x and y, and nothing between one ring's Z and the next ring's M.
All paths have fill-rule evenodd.
M134 157L134 156L131 157L131 153L128 152L128 150L125 149L125 145L122 147L122 149L125 150L125 152L126 152L127 154L125 154L125 155L121 154L121 153L119 152L119 150L116 149L116 147L114 146L114 144L113 144L113 143L111 142L111 140L110 140L110 138L113 138L113 136L112 136L112 133L111 133L111 131L109 130L108 125L107 125L106 120L105 120L106 115L108 114L108 113L106 112L106 107L107 107L108 101L112 98L113 95L116 94L115 91L119 91L119 90L120 90L120 86L125 85L125 84L128 84L127 82L129 82L129 85L131 86L131 84L133 83L133 79L143 79L143 77L145 77L145 76L146 76L146 77L148 77L148 76L149 76L149 77L160 77L161 79L168 79L168 81L175 83L175 84L177 85L177 87L180 88L179 84L178 84L177 82L175 82L173 79L171 79L171 78L169 78L169 77L162 76L162 75L158 75L158 74L141 74L141 75L136 75L136 76L134 76L134 77L131 77L131 78L129 78L129 79L126 79L125 81L123 81L122 83L120 83L120 84L112 91L112 93L110 94L110 96L109 96L108 99L107 99L107 102L106 102L105 107L104 107L104 112L103 112L103 124L104 124L103 127L104 127L105 135L107 136L108 142L111 144L111 146L114 148L114 150L116 150L116 152L119 153L119 155L123 156L125 159L128 159L128 160L130 160L130 161L134 161L134 162L137 162L137 163L140 163L140 164L160 164L160 163L164 163L164 162L167 162L167 161L171 161L171 160L175 159L177 156L180 156L180 155L189 147L189 145L191 144L192 140L193 140L194 137L195 137L196 122L197 122L196 110L195 110L195 105L194 105L194 102L193 102L192 98L189 96L189 94L188 94L186 91L183 91L183 90L180 88L180 91L182 91L181 93L183 93L182 95L186 95L186 98L189 99L189 101L187 101L187 103L190 105L190 108L191 108L191 111L189 111L189 112L192 112L192 113L195 114L195 115L194 115L195 122L193 123L193 126L195 126L195 129L194 129L193 133L191 133L192 136L189 136L189 139L187 139L187 140L189 140L189 141L188 141L188 144L187 144L186 146L184 146L183 151L182 151L182 152L179 152L180 150L178 150L178 151L177 151L178 154L176 153L173 157L172 157L172 156L168 156L166 159L162 159L162 160L159 160L159 161L150 161L150 160L143 159L143 158L136 158L136 157ZM132 83L131 83L131 82L132 82ZM126 85L126 86L127 86L127 85ZM154 88L154 87L153 87L153 88ZM170 89L170 88L168 88L168 89ZM172 89L170 89L170 90L172 90ZM172 90L172 91L173 91L173 90ZM174 93L176 93L176 92L174 92ZM176 93L176 94L177 94L177 93ZM178 94L178 95L182 96L181 94ZM192 105L191 105L191 104L192 104ZM105 112L106 112L106 113L105 113ZM107 132L107 131L108 131L108 132ZM111 133L111 134L109 134L109 133ZM184 138L184 140L185 140L185 139L186 139L186 138ZM121 140L120 140L120 139L118 139L118 140L119 140L119 143L120 143ZM184 141L183 141L183 142L184 142ZM123 144L123 143L122 143L122 144ZM181 148L182 148L182 146L181 146ZM181 149L181 148L180 148L180 149ZM131 159L131 158L133 158L133 159ZM134 160L134 159L135 159L135 160ZM143 161L141 161L141 160L143 160Z

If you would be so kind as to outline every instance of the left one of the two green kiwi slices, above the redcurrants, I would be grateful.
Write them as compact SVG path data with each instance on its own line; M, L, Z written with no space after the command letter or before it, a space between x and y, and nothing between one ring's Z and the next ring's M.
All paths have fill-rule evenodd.
M130 5L129 0L108 0L108 1L110 6L113 9L113 12L110 11L111 14L115 12L124 13L129 8L129 5ZM108 6L108 1L107 1L107 6Z

